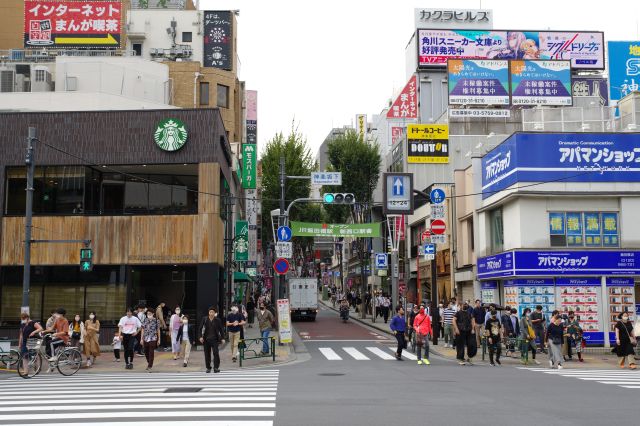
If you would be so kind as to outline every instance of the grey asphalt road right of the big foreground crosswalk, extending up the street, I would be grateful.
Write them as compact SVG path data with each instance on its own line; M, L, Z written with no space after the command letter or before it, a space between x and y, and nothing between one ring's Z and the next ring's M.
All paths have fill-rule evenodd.
M435 356L429 366L384 360L369 348L393 354L388 336L343 324L329 310L295 328L310 359L280 368L277 425L637 422L640 389L622 387L640 388L637 372L459 366ZM321 348L340 359L328 359L326 354L335 356Z

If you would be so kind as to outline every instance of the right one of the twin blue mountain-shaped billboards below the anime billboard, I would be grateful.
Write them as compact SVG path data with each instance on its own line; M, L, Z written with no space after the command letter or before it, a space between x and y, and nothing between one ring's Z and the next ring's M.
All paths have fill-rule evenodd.
M511 61L513 105L571 106L570 61Z

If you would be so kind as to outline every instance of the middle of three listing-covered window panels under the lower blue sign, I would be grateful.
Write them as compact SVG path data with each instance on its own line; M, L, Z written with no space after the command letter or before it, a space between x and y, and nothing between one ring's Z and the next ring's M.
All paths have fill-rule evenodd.
M560 311L573 311L584 332L600 331L600 278L556 278L560 294Z

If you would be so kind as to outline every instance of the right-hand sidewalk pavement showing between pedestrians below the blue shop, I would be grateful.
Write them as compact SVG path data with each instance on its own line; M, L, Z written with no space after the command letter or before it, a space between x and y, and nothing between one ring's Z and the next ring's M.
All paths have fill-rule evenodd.
M329 300L321 300L324 306L329 309L332 309L338 312L338 304L336 303L336 308L334 308ZM392 314L389 314L389 321L391 320ZM389 329L389 323L384 322L382 317L378 317L375 319L375 322L372 322L371 315L367 315L366 319L360 318L360 313L356 313L353 308L350 309L349 319L358 321L368 327L374 328L383 333L387 333L392 335L391 329ZM444 347L444 339L438 339L438 345L433 345L431 343L429 345L429 350L431 353L440 356L442 358L456 361L456 350L454 348L445 348ZM520 360L520 352L517 352L515 355L510 354L510 357L505 356L505 352L503 350L502 356L500 358L500 362L503 365L512 365L512 366L522 366L522 362ZM573 361L567 361L563 363L563 366L567 369L569 368L593 368L593 369L606 369L606 368L619 368L617 363L618 359L615 354L610 352L609 348L585 348L582 353L582 357L584 358L584 362L578 361L578 356L574 354ZM536 354L536 359L540 362L541 367L549 367L549 357L545 354ZM489 365L489 352L485 354L485 359L482 359L482 348L478 348L478 354L474 357L473 362L475 364L486 364ZM531 359L531 354L529 354L529 363L528 366L536 367L537 364Z

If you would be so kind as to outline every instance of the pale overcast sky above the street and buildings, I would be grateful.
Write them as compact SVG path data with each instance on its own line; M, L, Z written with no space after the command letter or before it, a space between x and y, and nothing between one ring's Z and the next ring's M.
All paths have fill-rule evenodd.
M260 150L295 119L314 155L332 127L358 113L371 121L402 89L414 8L480 6L493 9L496 29L640 38L637 0L200 0L200 9L240 10L240 79L258 90Z

